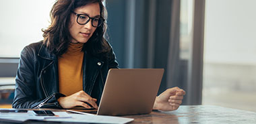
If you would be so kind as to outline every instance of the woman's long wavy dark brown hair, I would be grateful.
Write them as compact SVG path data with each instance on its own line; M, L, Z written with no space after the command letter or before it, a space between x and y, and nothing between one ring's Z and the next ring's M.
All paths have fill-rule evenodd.
M44 37L43 44L46 45L49 52L61 56L67 51L71 43L69 33L70 15L77 7L82 7L88 3L99 3L100 16L106 19L107 13L102 1L104 0L57 0L50 13L51 25L47 29L42 29L44 33L42 35ZM96 28L92 37L84 44L82 49L84 52L94 56L100 56L100 54L107 56L106 53L111 50L111 47L104 38L106 27L104 21L100 27Z

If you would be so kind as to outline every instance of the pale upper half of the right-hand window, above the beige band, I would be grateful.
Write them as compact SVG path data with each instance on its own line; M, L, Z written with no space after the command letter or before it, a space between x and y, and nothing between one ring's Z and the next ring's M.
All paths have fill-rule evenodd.
M256 64L256 1L207 0L204 61Z

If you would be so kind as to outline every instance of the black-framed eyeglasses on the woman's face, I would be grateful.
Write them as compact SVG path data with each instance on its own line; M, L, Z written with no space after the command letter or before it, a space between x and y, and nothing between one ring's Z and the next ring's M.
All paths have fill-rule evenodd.
M73 13L77 16L76 21L79 23L79 25L85 25L90 21L90 19L92 19L92 26L100 27L100 25L102 25L102 23L105 21L103 17L90 17L86 14L77 14L75 12Z

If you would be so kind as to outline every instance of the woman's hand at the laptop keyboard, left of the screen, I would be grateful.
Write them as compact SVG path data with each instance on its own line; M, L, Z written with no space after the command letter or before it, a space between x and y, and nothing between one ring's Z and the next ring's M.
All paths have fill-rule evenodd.
M61 105L63 109L71 109L76 106L82 106L86 107L87 109L90 109L91 107L87 105L85 102L92 105L92 107L94 107L95 109L98 109L96 101L97 99L93 99L83 90L75 92L73 95L67 97L60 97L58 99L59 105Z

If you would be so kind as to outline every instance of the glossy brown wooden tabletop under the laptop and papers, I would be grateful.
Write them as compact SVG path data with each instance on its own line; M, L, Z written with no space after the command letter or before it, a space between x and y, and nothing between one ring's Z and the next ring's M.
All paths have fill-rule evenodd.
M53 111L63 111L56 110ZM133 118L129 124L133 123L256 123L256 113L251 111L242 111L238 109L230 109L226 107L197 105L197 106L181 106L177 111L160 112L153 111L148 115L129 115L123 117ZM1 123L1 121L0 121ZM3 122L2 122L3 123ZM26 123L47 123L27 121ZM53 122L48 122L53 123ZM11 124L11 123L10 123Z

